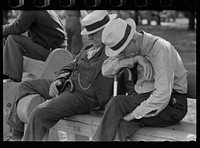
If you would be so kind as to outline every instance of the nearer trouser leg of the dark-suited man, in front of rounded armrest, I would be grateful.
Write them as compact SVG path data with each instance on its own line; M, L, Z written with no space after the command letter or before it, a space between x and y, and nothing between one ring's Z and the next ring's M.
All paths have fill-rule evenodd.
M60 119L76 114L88 114L92 102L78 93L64 91L57 98L52 98L39 106L31 113L23 141L40 141L48 130Z

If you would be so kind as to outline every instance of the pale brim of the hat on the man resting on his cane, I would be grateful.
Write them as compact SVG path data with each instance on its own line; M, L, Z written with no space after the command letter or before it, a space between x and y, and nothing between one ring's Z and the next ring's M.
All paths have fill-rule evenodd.
M118 55L120 52L122 52L126 46L129 44L129 42L131 41L135 30L136 30L136 24L135 21L131 18L128 18L127 20L125 20L130 26L131 26L131 32L126 40L126 42L122 45L122 47L120 47L118 50L112 50L111 48L109 48L108 46L106 46L105 48L105 54L108 57L115 57L116 55Z

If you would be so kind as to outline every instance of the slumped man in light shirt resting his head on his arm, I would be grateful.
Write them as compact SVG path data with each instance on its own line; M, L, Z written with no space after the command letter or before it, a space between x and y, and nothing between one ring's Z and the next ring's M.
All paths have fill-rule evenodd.
M104 76L133 67L140 56L151 63L153 75L139 72L135 95L119 95L108 102L93 140L112 141L116 133L118 140L131 140L140 126L164 127L183 119L187 113L187 72L168 41L137 32L133 19L115 19L104 28L102 42L109 56L102 66Z

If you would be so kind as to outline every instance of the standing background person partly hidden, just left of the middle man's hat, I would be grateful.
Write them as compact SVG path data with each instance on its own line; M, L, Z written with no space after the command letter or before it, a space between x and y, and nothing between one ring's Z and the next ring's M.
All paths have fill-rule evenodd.
M64 15L66 16L65 29L68 35L68 50L72 53L73 57L78 55L83 47L83 41L81 36L81 13L77 10L66 10Z

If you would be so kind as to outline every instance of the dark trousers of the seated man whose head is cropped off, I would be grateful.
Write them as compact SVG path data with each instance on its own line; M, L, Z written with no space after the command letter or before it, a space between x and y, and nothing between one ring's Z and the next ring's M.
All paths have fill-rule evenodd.
M45 61L50 53L41 45L34 43L30 37L9 35L3 49L3 74L15 81L21 81L23 73L23 56Z

